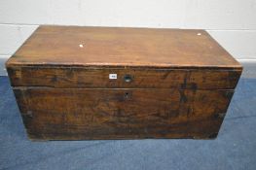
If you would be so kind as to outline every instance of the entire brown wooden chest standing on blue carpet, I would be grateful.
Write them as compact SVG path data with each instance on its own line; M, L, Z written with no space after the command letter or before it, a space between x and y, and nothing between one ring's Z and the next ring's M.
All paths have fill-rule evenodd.
M242 67L203 30L40 26L6 67L36 140L215 138Z

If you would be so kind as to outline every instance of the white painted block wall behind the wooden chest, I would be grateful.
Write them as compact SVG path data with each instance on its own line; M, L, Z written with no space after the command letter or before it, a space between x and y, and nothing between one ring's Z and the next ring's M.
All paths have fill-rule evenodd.
M239 61L256 61L256 0L0 0L0 58L39 24L206 29Z

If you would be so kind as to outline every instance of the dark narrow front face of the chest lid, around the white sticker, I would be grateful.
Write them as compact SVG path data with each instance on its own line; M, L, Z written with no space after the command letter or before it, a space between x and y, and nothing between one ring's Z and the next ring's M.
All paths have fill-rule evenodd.
M8 72L14 86L233 89L241 71L16 67ZM109 74L113 73L118 75L117 80L109 80ZM124 81L126 75L131 76L131 82Z

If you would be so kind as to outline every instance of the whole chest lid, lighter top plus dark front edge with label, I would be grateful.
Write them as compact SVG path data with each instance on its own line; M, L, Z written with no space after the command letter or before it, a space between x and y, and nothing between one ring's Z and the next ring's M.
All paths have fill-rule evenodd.
M241 66L203 30L40 26L7 61L13 86L233 89Z

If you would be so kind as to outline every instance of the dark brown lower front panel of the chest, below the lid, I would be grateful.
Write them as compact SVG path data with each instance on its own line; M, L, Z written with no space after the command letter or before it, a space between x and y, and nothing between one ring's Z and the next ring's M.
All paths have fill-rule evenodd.
M15 88L32 139L210 138L233 90Z

